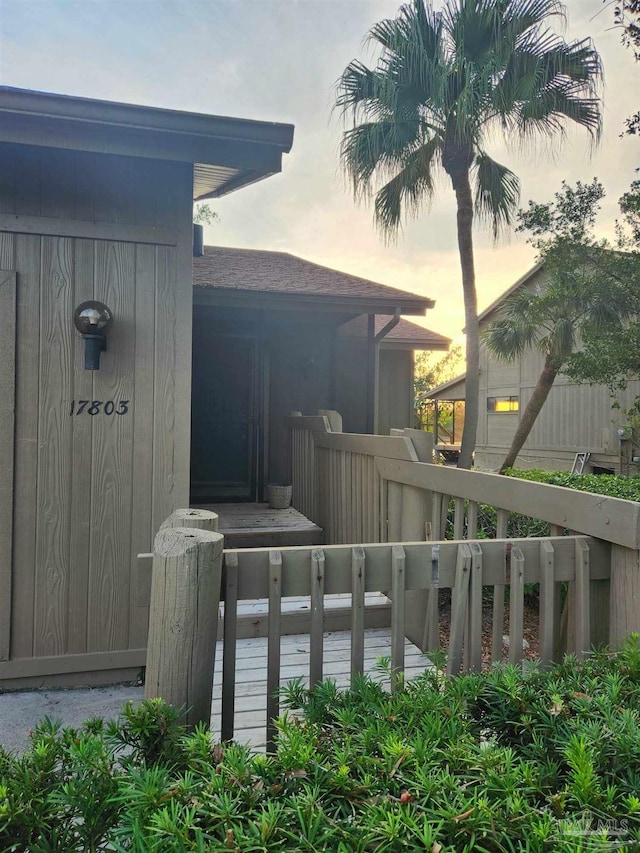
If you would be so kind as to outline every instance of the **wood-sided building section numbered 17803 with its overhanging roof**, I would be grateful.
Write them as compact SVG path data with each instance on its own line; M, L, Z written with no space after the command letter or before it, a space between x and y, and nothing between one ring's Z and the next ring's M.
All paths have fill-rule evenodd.
M0 687L133 678L137 554L189 501L193 201L293 127L0 88ZM84 369L74 310L113 313Z

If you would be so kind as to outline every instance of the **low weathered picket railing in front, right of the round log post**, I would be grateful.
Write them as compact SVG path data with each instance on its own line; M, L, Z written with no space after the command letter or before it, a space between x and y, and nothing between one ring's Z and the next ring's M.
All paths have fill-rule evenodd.
M576 630L572 651L583 656L599 642L602 625L591 620L594 588L609 577L607 546L589 537L523 539L512 542L438 542L372 544L225 551L222 579L224 652L222 738L234 734L236 624L238 601L257 597L269 601L267 740L273 742L273 721L280 712L280 619L282 600L310 596L311 686L323 677L323 597L350 593L351 673L364 669L364 595L387 589L391 597L391 686L401 681L405 653L407 595L451 590L451 623L447 669L450 674L482 667L482 601L487 587L510 586L509 660L523 656L524 584L540 583L540 656L551 661L560 631L560 584L576 589ZM500 636L500 652L502 650ZM437 646L439 646L439 637ZM433 648L436 648L434 646ZM425 660L425 666L428 666Z

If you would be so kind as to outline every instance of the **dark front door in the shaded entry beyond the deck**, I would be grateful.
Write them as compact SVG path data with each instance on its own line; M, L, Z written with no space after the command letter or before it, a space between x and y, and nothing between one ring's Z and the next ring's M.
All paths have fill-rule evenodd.
M255 500L257 342L193 331L191 500Z

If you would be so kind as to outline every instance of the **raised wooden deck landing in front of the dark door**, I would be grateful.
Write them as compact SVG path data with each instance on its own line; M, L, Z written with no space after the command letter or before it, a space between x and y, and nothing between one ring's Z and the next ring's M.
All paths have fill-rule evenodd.
M297 509L269 509L266 503L198 504L219 517L226 548L284 548L287 545L322 545L321 527Z

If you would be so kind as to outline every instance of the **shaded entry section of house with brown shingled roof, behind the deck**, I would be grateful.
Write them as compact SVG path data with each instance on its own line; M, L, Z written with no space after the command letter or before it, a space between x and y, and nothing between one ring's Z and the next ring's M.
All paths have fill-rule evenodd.
M400 317L430 299L284 252L207 246L193 281L193 502L288 479L292 411L335 409L345 432L412 426L413 351L450 344Z

